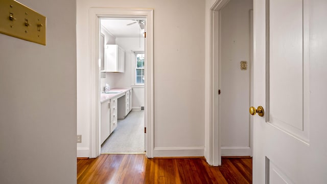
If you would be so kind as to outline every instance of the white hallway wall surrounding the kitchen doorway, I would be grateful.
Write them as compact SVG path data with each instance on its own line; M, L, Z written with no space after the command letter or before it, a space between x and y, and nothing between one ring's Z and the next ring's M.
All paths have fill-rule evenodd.
M201 0L77 2L77 132L83 136L78 150L87 153L89 148L89 29L85 22L90 7L154 9L154 156L203 155L205 34Z

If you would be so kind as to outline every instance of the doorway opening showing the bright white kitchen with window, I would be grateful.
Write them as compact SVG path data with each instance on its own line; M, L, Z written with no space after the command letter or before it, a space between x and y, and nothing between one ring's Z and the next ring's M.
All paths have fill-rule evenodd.
M145 153L146 19L106 17L100 24L101 153Z

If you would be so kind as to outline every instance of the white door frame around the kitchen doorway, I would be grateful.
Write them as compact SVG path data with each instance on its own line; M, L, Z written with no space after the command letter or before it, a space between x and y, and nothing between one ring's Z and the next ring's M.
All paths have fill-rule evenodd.
M90 8L89 44L90 44L90 158L98 157L100 145L100 67L98 61L100 18L135 17L146 18L147 38L145 43L147 64L145 65L145 124L146 155L153 157L154 149L154 95L153 95L153 9Z

